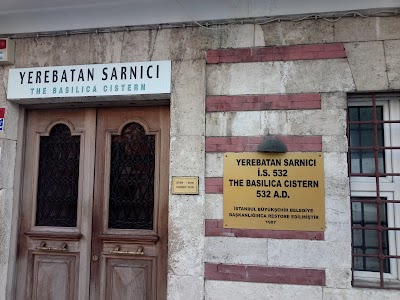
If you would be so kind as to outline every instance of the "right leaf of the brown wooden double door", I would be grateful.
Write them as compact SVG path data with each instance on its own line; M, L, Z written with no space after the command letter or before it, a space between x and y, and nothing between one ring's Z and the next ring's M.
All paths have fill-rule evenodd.
M106 298L117 274L109 260L131 265L128 274L154 261L146 268L153 280L142 280L139 290L146 290L143 299L165 299L169 108L100 109L96 136L92 254L101 259L92 263L91 299L119 299Z

